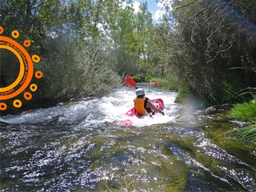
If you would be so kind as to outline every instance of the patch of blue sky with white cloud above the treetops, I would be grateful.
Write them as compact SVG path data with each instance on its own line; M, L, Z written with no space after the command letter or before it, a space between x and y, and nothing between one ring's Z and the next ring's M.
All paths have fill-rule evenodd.
M140 3L145 3L145 1L147 1L148 4L148 12L152 13L154 20L158 20L161 15L163 15L164 11L161 8L162 5L156 3L156 0L133 0L135 12L138 12Z

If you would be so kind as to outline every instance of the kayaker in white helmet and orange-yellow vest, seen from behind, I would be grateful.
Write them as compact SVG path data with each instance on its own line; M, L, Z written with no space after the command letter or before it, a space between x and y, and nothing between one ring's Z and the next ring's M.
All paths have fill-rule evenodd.
M154 103L149 100L147 97L145 97L144 90L141 88L138 88L136 90L137 97L134 99L134 108L135 112L138 113L138 115L147 115L147 113L154 115L154 113L161 113L164 115L164 112L157 109L157 107L154 105Z

